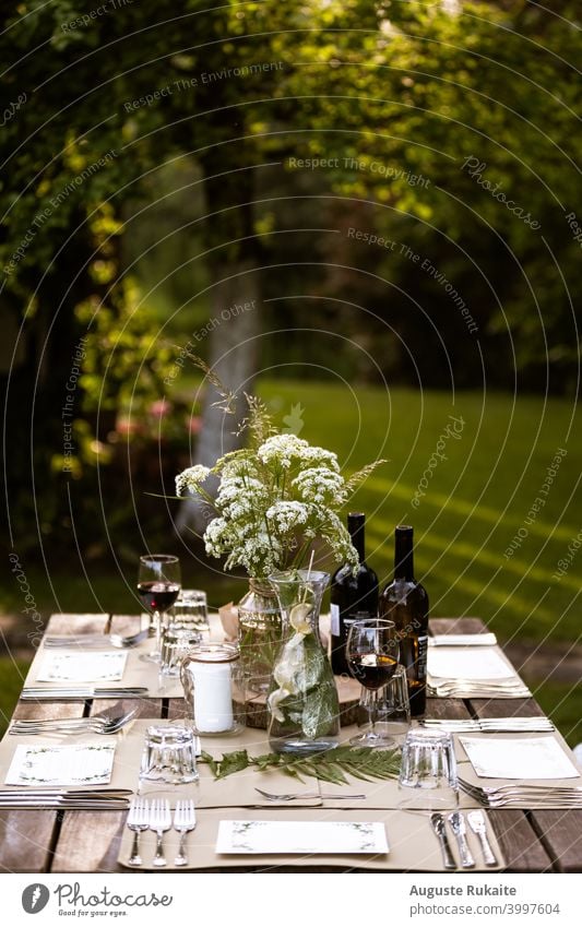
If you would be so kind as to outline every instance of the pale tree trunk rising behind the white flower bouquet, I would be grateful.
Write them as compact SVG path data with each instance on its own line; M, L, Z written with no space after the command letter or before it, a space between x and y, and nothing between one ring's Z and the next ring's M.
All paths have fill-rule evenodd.
M257 336L260 331L259 310L254 265L249 262L229 264L228 277L214 287L211 318L200 334L210 332L209 366L228 391L237 394L237 401L235 413L225 413L221 407L224 405L221 395L206 381L202 429L193 461L195 464L214 466L218 457L240 447L244 440L244 436L237 435L237 431L247 413L245 393L252 392ZM207 488L214 495L216 487L217 480ZM176 520L180 534L188 528L202 534L207 522L207 507L198 499L185 499Z

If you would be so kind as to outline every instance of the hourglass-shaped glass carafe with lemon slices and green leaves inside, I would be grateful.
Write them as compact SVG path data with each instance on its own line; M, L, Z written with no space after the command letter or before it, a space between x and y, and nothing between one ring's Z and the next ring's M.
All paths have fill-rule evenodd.
M268 735L276 753L317 753L336 747L340 701L319 637L319 611L329 573L274 573L284 641L266 700Z

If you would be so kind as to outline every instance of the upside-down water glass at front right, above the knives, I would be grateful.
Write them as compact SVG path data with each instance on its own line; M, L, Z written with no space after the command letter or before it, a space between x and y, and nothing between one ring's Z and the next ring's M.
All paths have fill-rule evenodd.
M414 728L402 748L401 806L438 810L456 808L459 781L452 735Z

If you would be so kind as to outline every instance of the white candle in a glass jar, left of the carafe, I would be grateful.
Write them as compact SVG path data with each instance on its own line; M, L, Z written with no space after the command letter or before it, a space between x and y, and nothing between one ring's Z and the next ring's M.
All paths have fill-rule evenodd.
M198 644L180 670L197 734L218 737L245 727L245 685L234 644Z

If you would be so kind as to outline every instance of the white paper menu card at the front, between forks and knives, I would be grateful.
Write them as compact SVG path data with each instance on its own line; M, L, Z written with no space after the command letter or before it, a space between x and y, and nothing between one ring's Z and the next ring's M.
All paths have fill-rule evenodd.
M216 853L388 853L376 821L221 821Z

